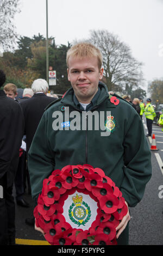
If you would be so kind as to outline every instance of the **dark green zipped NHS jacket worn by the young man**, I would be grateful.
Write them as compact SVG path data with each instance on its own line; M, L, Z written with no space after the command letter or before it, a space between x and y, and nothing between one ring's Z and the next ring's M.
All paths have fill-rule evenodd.
M100 94L90 111L96 111L96 117L98 112L99 119L104 113L102 120L106 126L110 111L112 123L107 136L104 133L109 130L102 130L101 125L98 128L97 118L93 119L90 129L88 120L82 118L83 111L74 103L72 88L62 99L47 107L28 154L33 198L39 195L43 179L48 178L54 169L87 163L104 170L120 188L129 206L135 206L142 199L152 175L151 151L142 120L126 100L116 95L119 103L115 105L106 86L99 83L99 88ZM69 121L66 119L67 110L71 116ZM76 130L71 129L71 124L75 123L74 113L78 113L78 120L80 117Z

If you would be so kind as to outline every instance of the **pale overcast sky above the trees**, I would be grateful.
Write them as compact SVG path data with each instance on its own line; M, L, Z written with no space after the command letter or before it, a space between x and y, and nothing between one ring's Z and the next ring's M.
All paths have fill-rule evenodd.
M46 37L46 0L21 0L20 9L17 33ZM163 0L48 0L48 36L67 45L88 38L91 29L107 29L128 44L151 81L163 78L162 14Z

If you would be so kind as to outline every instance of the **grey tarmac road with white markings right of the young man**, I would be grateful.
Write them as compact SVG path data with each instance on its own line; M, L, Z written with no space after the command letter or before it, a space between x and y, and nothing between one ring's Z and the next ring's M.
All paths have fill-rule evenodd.
M147 134L145 119L143 125ZM135 208L130 208L130 245L163 245L163 198L159 198L159 188L163 186L163 132L156 124L152 129L159 150L151 151L152 178L143 199ZM147 141L151 148L152 137L147 137Z

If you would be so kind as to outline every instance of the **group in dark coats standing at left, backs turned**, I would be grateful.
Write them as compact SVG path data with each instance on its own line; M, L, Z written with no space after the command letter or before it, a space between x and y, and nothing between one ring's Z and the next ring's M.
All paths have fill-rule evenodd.
M5 74L0 70L0 88L5 83ZM30 187L27 155L37 125L47 105L57 97L47 96L48 83L43 79L35 80L32 88L23 90L20 99L17 87L8 83L0 90L0 185L3 198L0 199L0 245L15 244L15 199L24 208L29 203L23 198L26 181ZM49 95L49 94L48 94ZM32 224L33 220L26 220Z

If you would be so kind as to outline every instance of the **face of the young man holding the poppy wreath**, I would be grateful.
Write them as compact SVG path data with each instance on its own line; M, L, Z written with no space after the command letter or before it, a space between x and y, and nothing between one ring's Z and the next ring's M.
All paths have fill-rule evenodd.
M90 103L97 93L98 82L103 77L103 69L99 70L97 57L70 56L67 72L68 81L71 82L79 102Z

